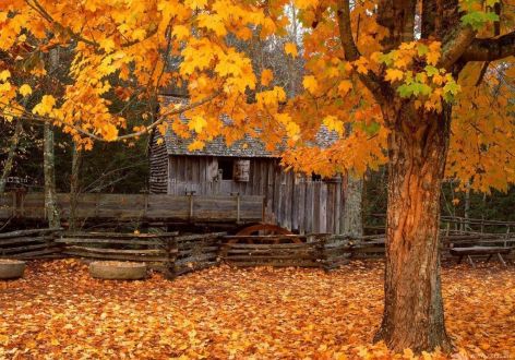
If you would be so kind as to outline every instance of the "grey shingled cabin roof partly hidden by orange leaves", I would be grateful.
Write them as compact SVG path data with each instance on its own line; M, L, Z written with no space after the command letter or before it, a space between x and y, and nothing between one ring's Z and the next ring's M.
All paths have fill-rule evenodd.
M187 99L173 97L173 96L161 96L160 101L163 103L185 103ZM184 119L185 120L185 119ZM227 117L225 119L230 121ZM334 131L328 131L325 127L321 128L316 134L316 145L327 147L338 139L338 135ZM265 148L265 145L259 139L245 135L243 139L233 142L228 146L223 136L217 136L213 141L207 142L203 149L189 151L188 146L194 141L194 137L184 139L178 136L171 131L171 127L168 127L165 134L165 144L168 155L197 155L197 156L226 156L226 157L279 157L279 152L270 152Z

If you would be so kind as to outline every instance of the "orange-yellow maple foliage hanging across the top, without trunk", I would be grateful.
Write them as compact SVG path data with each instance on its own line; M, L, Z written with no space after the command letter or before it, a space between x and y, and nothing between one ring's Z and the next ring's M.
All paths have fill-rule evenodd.
M462 22L472 26L478 38L492 37L496 17L490 8L498 2L459 1ZM0 113L8 121L53 121L75 140L82 136L89 148L84 134L116 141L159 125L142 117L136 133L122 134L127 119L111 111L109 96L127 106L152 104L170 88L187 87L197 106L171 104L161 108L160 117L169 118L179 135L196 133L190 149L218 135L231 143L249 133L270 149L286 139L284 160L298 170L327 176L363 172L386 161L388 129L378 99L362 83L366 74L373 74L384 92L412 101L421 115L442 111L443 103L454 106L448 177L470 180L481 191L505 190L514 182L513 57L489 62L479 86L483 63L467 65L455 79L439 63L444 39L421 38L384 49L381 41L387 29L378 23L380 2L362 0L352 2L350 12L351 37L360 56L349 61L340 41L338 3L294 1L298 20L309 31L302 44L284 46L285 61L302 56L306 63L304 92L288 99L284 88L273 87L275 74L253 67L235 44L285 35L290 1L3 0L0 50L7 61L0 62ZM503 1L502 8L500 29L506 34L514 28L513 0ZM64 49L73 59L59 97L46 86L52 48ZM24 76L11 73L14 69L23 69ZM250 94L255 100L249 101L254 98ZM34 104L28 113L25 101ZM185 130L179 112L191 119ZM220 121L221 113L232 122ZM323 124L339 139L330 148L313 148Z

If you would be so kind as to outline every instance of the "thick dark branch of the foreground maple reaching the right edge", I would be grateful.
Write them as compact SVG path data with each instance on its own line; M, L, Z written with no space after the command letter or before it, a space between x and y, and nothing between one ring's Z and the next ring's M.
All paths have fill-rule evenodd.
M495 61L515 56L515 32L498 38L474 39L463 52L464 61Z

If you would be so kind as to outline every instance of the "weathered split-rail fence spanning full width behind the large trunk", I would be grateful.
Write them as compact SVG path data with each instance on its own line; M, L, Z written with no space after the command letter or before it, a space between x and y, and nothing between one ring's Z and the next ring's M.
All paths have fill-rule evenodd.
M442 233L441 254L460 247L501 247L515 260L515 236L499 233ZM235 266L302 266L336 268L350 257L381 257L385 237L315 233L308 236L227 236L225 232L179 235L63 232L35 229L0 233L0 257L145 262L175 277L225 262Z

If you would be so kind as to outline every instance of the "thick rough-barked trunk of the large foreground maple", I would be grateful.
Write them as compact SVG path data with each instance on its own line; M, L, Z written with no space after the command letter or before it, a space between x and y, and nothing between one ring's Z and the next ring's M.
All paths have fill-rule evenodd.
M383 111L392 129L385 308L375 340L383 339L398 351L450 350L440 281L439 223L451 109L428 115L404 103Z

